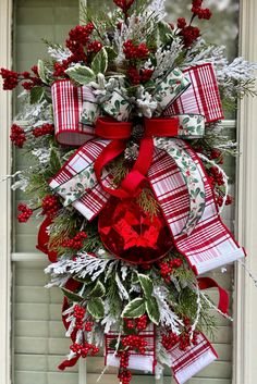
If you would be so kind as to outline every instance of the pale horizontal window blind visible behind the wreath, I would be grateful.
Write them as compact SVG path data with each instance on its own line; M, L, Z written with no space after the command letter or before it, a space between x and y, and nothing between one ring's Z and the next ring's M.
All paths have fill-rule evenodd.
M44 57L45 45L41 37L61 42L68 30L78 23L77 0L16 0L14 28L14 57L17 71L29 69ZM94 2L95 5L95 2ZM228 124L228 132L234 135L234 124ZM27 166L23 158L16 157L15 168ZM233 175L234 162L225 168ZM20 193L15 206L23 200ZM225 223L233 226L233 209L224 212ZM57 289L44 288L47 277L44 274L46 257L42 261L29 257L35 252L37 239L36 220L26 225L14 222L14 305L13 305L13 376L14 384L96 384L103 369L103 359L87 359L87 376L78 375L77 368L58 372L57 366L69 350L70 340L64 338L61 322L62 297ZM24 261L30 258L29 261ZM215 272L216 278L230 293L232 292L233 268L227 273ZM217 301L217 293L211 292ZM231 384L232 375L232 327L231 323L216 314L219 327L212 340L219 360L203 370L191 384ZM164 384L170 384L170 370L167 369ZM101 384L117 383L115 370L111 369L102 377ZM154 384L152 376L135 374L132 384Z

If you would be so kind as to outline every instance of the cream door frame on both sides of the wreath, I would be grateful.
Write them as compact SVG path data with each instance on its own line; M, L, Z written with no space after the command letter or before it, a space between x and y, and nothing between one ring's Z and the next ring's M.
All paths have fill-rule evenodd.
M257 2L241 0L241 52L257 62L255 44ZM12 0L0 1L0 67L12 65ZM1 87L1 80L0 80ZM11 92L0 89L0 178L10 174ZM257 275L257 97L240 104L237 124L242 156L237 161L236 227L240 241L246 247L247 267ZM7 129L4 129L4 127ZM10 183L0 183L0 383L11 384L11 190ZM234 290L234 364L233 384L253 384L257 376L257 289L237 265Z

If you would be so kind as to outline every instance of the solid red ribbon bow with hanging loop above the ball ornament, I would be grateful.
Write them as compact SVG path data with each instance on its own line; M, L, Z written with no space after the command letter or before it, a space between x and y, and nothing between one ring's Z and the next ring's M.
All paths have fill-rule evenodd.
M146 182L146 174L151 165L154 156L154 136L173 137L178 136L179 117L169 119L145 119L145 136L140 140L138 158L133 169L122 181L117 189L107 187L101 181L102 169L120 156L126 148L126 139L132 134L132 123L117 122L112 119L98 119L96 123L96 135L111 139L112 141L101 151L94 168L98 183L102 189L121 199L132 198L140 191L139 186Z

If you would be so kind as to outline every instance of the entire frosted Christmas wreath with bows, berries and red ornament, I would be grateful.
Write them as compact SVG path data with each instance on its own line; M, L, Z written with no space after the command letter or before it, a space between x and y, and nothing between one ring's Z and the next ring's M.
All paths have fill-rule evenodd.
M113 2L85 9L30 73L1 69L3 89L24 88L11 140L33 159L15 174L29 199L17 220L44 216L38 249L72 340L61 370L103 347L123 384L164 366L183 384L217 358L210 309L229 318L228 294L200 275L245 256L220 219L232 202L220 165L236 152L220 122L256 65L204 40L201 0L176 24L163 0Z

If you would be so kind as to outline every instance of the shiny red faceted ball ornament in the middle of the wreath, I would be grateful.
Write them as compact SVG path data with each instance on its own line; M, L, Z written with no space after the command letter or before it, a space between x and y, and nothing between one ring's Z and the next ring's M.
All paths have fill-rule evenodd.
M150 215L136 199L111 197L99 215L98 230L110 252L134 264L160 260L173 247L162 214Z

